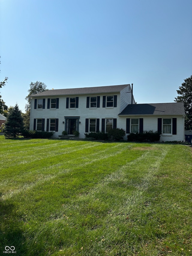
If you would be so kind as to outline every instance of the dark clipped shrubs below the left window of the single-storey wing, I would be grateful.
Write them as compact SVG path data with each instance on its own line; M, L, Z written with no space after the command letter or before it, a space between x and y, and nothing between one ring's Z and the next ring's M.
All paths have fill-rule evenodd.
M130 133L127 136L128 141L139 141L139 142L155 142L159 141L161 134L158 131L143 131L142 133Z

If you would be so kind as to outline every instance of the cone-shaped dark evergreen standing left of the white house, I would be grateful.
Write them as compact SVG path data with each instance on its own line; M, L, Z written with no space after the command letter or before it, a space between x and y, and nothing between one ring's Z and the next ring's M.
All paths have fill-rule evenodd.
M13 109L10 110L9 115L7 116L7 121L4 128L4 136L6 138L16 138L19 136L23 129L23 118L21 110L19 110L18 105L16 104Z

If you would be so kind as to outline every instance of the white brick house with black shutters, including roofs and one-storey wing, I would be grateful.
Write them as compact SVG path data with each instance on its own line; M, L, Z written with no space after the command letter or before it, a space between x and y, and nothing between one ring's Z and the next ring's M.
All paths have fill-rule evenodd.
M123 128L162 131L161 140L184 140L183 103L135 104L130 84L48 90L31 96L30 130L90 131ZM125 137L126 139L126 137Z

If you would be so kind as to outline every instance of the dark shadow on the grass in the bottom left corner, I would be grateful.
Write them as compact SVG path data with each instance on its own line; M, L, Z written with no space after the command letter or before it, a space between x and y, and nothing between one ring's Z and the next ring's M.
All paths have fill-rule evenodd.
M26 239L23 230L18 228L19 223L14 218L14 212L15 206L3 202L0 198L0 255L13 251L16 251L17 255L27 255Z

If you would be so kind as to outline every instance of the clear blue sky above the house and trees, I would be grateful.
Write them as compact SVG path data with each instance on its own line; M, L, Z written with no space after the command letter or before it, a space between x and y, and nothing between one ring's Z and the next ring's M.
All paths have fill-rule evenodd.
M192 74L192 0L0 0L0 89L24 112L29 84L133 83L137 103L173 102Z

